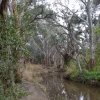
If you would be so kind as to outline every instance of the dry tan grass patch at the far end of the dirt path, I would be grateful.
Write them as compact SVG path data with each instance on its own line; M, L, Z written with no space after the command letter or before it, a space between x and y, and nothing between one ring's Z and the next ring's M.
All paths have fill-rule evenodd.
M31 63L26 64L26 68L23 72L23 79L28 82L41 82L43 79L41 74L44 73L42 65L33 65Z

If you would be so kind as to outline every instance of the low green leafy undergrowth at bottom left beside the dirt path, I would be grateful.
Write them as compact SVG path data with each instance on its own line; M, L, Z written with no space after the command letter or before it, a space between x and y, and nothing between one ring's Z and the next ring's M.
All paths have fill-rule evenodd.
M7 88L5 93L2 88L0 85L0 100L19 100L29 95L25 86L21 84L16 84L13 88Z

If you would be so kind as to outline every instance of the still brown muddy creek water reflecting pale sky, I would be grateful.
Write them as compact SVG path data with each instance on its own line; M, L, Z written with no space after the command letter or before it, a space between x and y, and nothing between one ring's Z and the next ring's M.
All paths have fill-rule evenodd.
M64 80L62 75L44 77L49 100L100 100L100 87Z

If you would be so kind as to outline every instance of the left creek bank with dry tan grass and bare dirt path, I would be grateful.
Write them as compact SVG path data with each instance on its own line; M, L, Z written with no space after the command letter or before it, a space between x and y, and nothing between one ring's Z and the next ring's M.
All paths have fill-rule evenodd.
M27 87L28 96L20 100L48 100L48 93L42 84L43 76L58 71L56 67L45 67L31 63L23 71L22 84Z

